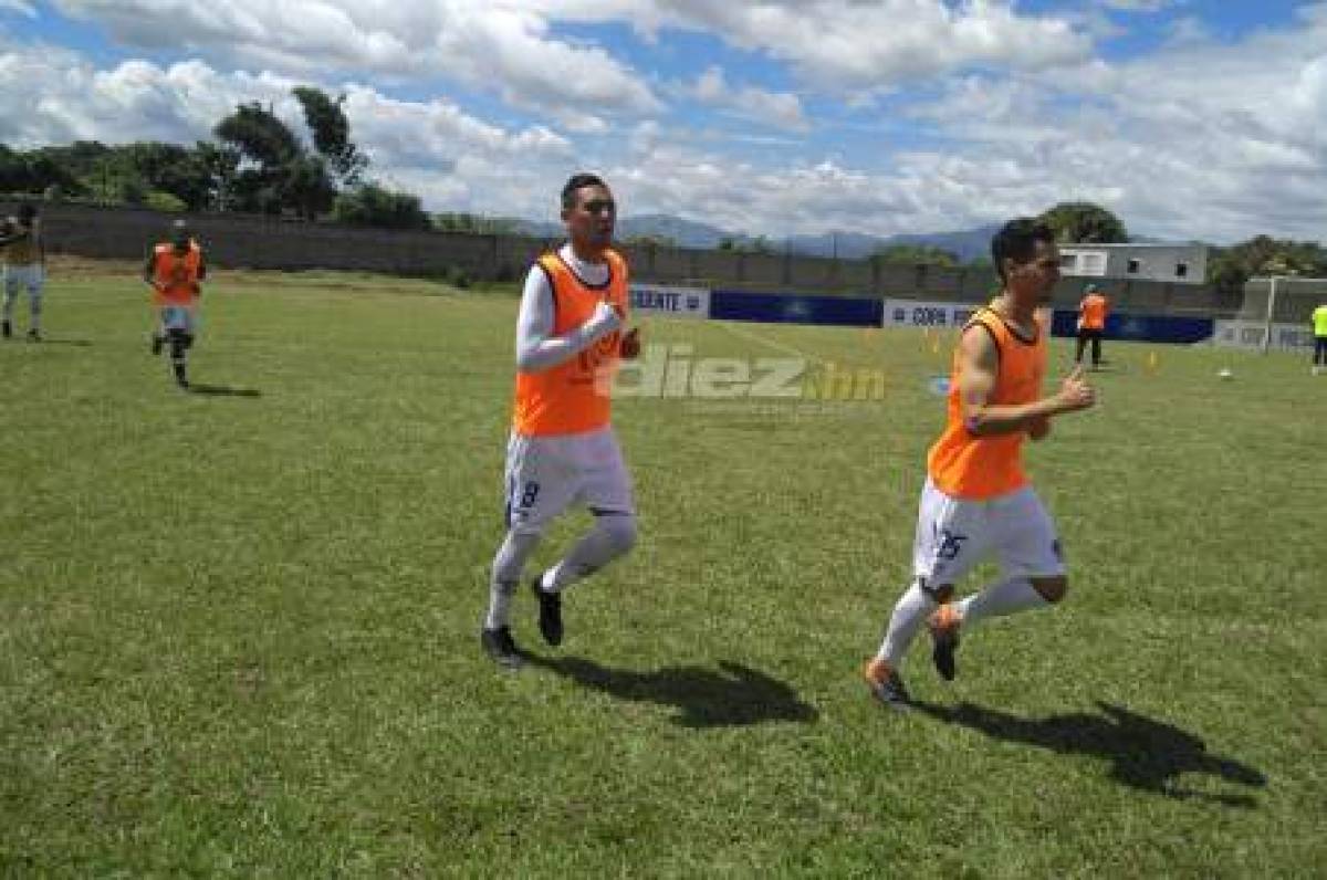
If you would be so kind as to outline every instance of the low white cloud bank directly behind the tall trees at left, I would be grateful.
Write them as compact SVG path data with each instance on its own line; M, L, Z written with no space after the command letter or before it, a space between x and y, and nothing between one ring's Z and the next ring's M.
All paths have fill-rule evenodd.
M126 61L98 70L68 49L0 42L0 80L31 84L21 93L0 92L0 142L16 147L77 139L191 143L210 138L223 115L248 101L272 105L304 130L291 96L303 81L220 73L200 61L165 68ZM399 101L357 84L328 90L346 96L352 138L373 161L370 177L409 182L437 210L537 214L547 177L564 177L573 165L571 142L545 126L504 129L443 100ZM36 104L32 94L40 96Z

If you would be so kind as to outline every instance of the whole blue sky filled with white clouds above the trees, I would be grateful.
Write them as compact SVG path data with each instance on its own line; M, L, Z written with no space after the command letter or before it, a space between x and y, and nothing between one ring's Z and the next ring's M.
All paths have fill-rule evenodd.
M170 25L165 25L170 21ZM966 228L1064 199L1135 232L1322 240L1327 3L0 0L0 141L208 137L348 96L382 181L750 234Z

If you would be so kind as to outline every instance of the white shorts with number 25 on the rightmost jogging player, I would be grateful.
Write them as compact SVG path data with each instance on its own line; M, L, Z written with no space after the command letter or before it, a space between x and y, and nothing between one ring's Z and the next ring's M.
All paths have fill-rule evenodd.
M987 555L1005 577L1064 573L1055 523L1031 486L986 500L950 498L926 478L917 512L913 575L932 587L954 584Z

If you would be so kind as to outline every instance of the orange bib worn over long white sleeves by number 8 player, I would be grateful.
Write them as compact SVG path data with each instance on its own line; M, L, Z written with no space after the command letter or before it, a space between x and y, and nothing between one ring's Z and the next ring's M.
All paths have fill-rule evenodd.
M545 254L539 265L553 288L553 336L572 332L606 301L626 316L626 260L605 251L608 283L591 287L576 277L560 256ZM584 434L605 427L610 415L609 388L617 370L621 333L601 337L576 357L539 373L516 373L512 427L525 437Z

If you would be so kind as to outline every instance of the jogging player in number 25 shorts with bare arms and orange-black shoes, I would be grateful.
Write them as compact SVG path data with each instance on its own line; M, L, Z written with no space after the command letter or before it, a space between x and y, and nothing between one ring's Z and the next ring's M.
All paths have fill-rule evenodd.
M1019 449L1024 437L1044 438L1051 418L1088 409L1096 396L1082 366L1056 394L1040 396L1048 328L1038 307L1050 303L1060 265L1051 230L1011 220L991 240L991 256L1002 288L973 315L954 352L947 425L926 462L913 583L864 670L876 697L896 707L909 701L900 668L922 624L936 669L951 680L959 632L1058 603L1067 587L1055 526L1023 474ZM953 603L958 579L991 552L1001 580Z

